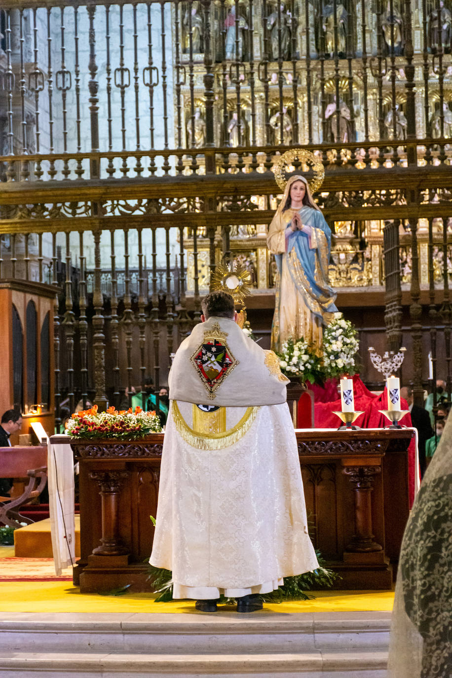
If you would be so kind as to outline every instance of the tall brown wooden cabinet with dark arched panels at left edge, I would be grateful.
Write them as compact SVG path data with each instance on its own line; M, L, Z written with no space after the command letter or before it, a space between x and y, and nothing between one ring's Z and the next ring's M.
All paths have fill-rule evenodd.
M21 433L39 421L47 435L54 433L54 285L28 280L0 279L0 415L22 412Z

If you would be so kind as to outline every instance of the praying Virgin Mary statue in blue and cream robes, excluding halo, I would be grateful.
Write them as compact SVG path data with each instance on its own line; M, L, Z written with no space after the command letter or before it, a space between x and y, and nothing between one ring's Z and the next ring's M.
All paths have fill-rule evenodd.
M331 231L304 176L287 182L267 245L279 271L272 349L280 351L289 337L303 337L321 355L323 326L337 311L336 294L328 284Z

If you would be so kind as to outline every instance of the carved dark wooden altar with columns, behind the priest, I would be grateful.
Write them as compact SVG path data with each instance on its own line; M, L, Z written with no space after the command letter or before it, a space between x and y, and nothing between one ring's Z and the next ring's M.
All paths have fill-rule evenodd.
M335 588L390 589L409 514L410 429L299 431L310 535L342 576ZM81 591L148 591L163 434L73 441L80 462Z

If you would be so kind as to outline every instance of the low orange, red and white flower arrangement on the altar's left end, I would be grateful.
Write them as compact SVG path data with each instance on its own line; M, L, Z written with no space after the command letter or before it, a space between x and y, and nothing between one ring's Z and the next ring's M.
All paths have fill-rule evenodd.
M94 405L89 410L75 412L66 426L71 438L114 438L116 440L137 440L149 433L162 430L160 418L155 412L143 412L137 405L135 412L115 410L108 407L106 412L98 412Z

